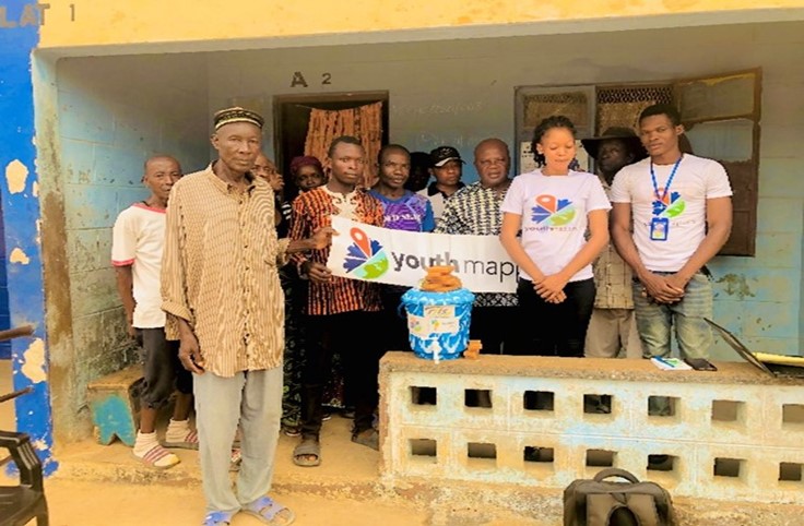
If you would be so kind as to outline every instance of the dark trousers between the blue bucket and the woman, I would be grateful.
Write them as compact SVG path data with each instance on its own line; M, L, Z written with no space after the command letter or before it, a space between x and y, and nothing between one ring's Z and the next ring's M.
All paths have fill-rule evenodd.
M483 343L484 355L518 355L520 331L512 328L519 315L518 307L472 307L469 337Z

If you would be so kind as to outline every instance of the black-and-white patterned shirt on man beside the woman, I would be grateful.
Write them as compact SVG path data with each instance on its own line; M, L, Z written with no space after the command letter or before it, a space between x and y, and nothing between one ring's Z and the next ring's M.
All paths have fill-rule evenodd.
M456 193L447 201L441 219L437 223L436 234L463 234L475 236L499 236L503 226L503 213L499 210L505 192L496 192L473 182ZM477 307L515 307L516 294L478 292L474 304Z

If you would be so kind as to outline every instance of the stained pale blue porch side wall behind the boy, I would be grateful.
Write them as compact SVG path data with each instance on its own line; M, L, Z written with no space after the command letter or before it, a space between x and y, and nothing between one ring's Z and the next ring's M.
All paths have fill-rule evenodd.
M86 383L132 359L110 265L117 214L147 196L143 162L176 156L186 171L208 162L206 75L202 60L159 57L62 59L56 65L57 162L43 187L56 432L88 432ZM44 130L43 130L44 131ZM47 240L46 240L47 241ZM64 338L63 336L67 335ZM76 418L76 416L79 418Z

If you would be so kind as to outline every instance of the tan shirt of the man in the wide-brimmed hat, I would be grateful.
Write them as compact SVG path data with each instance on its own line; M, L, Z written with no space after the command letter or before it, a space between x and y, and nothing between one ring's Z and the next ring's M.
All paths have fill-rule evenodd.
M611 189L602 179L601 182L606 195L611 198ZM594 307L596 309L634 309L631 267L623 261L613 243L608 243L603 249L592 267L594 286L598 289Z

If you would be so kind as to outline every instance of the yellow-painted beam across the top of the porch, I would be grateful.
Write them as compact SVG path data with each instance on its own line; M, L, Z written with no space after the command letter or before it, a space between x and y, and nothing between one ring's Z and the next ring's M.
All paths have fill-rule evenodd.
M804 7L801 0L411 0L397 4L374 0L355 0L348 4L321 0L249 0L237 7L222 0L177 0L170 2L169 9L154 0L137 3L51 0L49 3L47 23L42 27L43 48L247 40Z

